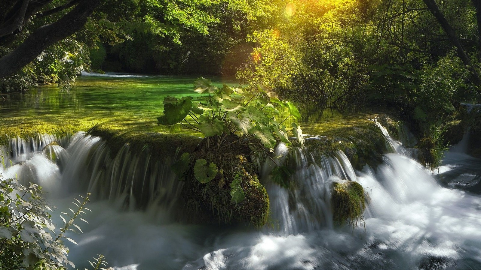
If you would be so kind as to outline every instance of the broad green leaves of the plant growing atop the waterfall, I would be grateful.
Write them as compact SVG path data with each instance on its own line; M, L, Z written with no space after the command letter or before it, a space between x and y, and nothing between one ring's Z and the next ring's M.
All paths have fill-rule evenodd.
M301 117L299 110L291 102L279 100L277 95L267 92L263 86L258 85L256 90L245 92L241 88L227 85L219 88L214 86L211 80L200 77L194 81L194 92L200 94L200 97L168 96L164 99L164 115L157 118L158 124L181 123L205 135L205 148L202 149L201 156L195 160L190 158L189 154L184 154L172 165L179 178L186 176L189 164L195 160L192 170L198 182L206 184L218 178L219 183L224 183L222 184L224 186L226 181L224 172L233 173L229 175L232 178L231 201L237 204L244 200L241 173L234 172L225 158L215 158L214 155L207 153L230 152L232 148L242 147L272 149L277 144L275 136L280 141L290 144L288 131L283 123L290 118ZM282 116L281 111L288 114L278 123L275 117ZM296 123L292 123L291 132L303 146L302 129Z

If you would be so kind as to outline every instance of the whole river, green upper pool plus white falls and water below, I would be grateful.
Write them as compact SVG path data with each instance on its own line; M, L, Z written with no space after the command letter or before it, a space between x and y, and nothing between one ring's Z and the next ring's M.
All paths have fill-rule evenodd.
M42 86L13 94L0 103L0 123L12 129L109 120L165 132L155 124L159 104L166 95L188 94L191 82L190 77L82 76L69 92ZM155 163L128 148L110 157L101 138L83 132L30 141L12 138L1 148L12 162L0 172L44 186L48 200L58 207L53 216L87 190L101 194L83 217L89 223L79 224L83 233L69 235L78 243L69 244L69 258L79 269L88 267L87 260L96 254L103 254L116 270L481 269L481 196L459 184L479 180L481 160L468 156L462 141L446 152L439 170L430 172L378 126L392 150L375 168L356 170L341 151L318 157L298 149L297 189L265 182L271 221L261 229L176 221L172 213L179 211L179 184L167 161ZM59 141L55 162L42 152L53 140ZM277 157L287 154L282 145L276 151ZM266 164L261 176L268 171ZM359 182L369 196L364 219L354 228L332 225L329 185L339 179ZM126 207L130 187L139 183L155 183L142 191L148 207L133 207L133 197Z

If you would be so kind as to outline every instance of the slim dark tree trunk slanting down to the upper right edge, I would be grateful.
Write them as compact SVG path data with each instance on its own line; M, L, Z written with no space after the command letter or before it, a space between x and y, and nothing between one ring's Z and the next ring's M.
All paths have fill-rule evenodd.
M473 1L479 1L479 0L473 0ZM444 17L443 13L439 10L438 5L436 4L435 0L423 0L423 2L426 4L432 15L436 18L436 20L439 22L441 27L443 27L444 32L448 35L449 41L453 44L453 46L456 47L456 52L457 56L463 61L464 65L468 68L469 72L471 73L471 80L476 86L481 85L480 77L478 75L478 72L476 69L473 67L471 59L469 58L468 54L466 53L466 50L464 49L463 45L461 42L459 42L459 39L456 36L456 33L449 25L449 22L446 20Z

